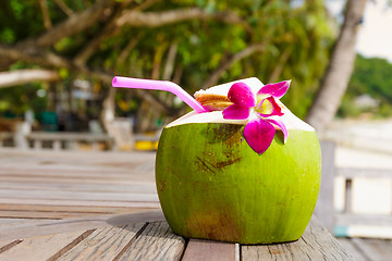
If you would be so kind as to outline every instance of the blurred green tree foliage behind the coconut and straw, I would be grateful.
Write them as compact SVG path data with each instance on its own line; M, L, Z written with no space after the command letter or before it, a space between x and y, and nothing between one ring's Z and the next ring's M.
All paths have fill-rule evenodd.
M64 1L75 13L95 2ZM120 4L124 1L118 2ZM133 1L131 8L142 2L144 1ZM68 18L54 1L47 3L53 25ZM160 78L169 49L175 44L177 52L172 75L181 75L180 85L193 94L224 61L252 45L264 45L264 51L255 52L232 64L221 75L219 83L252 76L258 77L265 84L270 80L293 79L292 88L283 102L297 115L306 114L329 61L329 51L335 38L335 30L331 28L331 18L326 12L322 0L304 1L299 8L294 8L285 0L169 0L157 1L145 12L164 12L195 7L211 14L234 13L244 21L245 25L210 18L189 20L156 28L124 26L100 42L98 51L89 58L86 65L94 70L105 70L113 75L131 77L151 78L154 73L158 72L155 76ZM37 1L5 1L0 9L2 27L0 44L13 45L45 33L40 14ZM50 48L59 55L72 59L103 28L103 22L97 23L84 32L62 38ZM137 39L135 46L126 53L124 62L119 62L124 48L135 39ZM72 77L79 76L78 72L57 70L68 83ZM274 78L271 78L272 75ZM25 88L33 87L26 85L21 88L27 91ZM15 90L15 97L17 91ZM35 87L32 92L36 92ZM3 96L1 97L4 99ZM33 97L35 96L32 95L32 99ZM126 102L133 110L137 109L135 102L137 103L138 100ZM21 104L17 110L24 108L22 105L24 102L15 104Z

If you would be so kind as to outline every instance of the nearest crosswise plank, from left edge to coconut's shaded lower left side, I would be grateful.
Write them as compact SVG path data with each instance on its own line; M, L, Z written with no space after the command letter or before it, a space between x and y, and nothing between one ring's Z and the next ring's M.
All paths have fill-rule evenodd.
M16 223L9 226L0 226L2 240L20 239L40 235L51 235L81 229L93 229L108 225L124 225L137 222L163 221L161 211L135 212L114 215L83 216L69 220L50 220L28 223Z

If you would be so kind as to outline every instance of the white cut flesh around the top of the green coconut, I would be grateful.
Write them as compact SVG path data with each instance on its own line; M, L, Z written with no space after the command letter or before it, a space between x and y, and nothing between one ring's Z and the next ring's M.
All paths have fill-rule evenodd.
M252 77L252 78L240 79L240 80L218 85L206 90L199 90L195 94L195 96L206 94L206 95L219 95L226 97L230 87L236 82L243 82L247 84L252 88L254 94L257 94L257 91L264 86L264 84L258 78ZM314 127L311 127L309 124L303 122L301 119L295 116L281 101L278 100L278 103L282 107L282 112L284 113L283 116L271 116L269 119L282 121L287 129L315 132ZM223 119L222 111L212 111L212 112L204 112L204 113L197 113L195 111L192 111L185 114L184 116L175 120L174 122L168 124L166 128L170 128L182 124L192 124L192 123L228 123L228 124L245 125L247 122L248 120Z

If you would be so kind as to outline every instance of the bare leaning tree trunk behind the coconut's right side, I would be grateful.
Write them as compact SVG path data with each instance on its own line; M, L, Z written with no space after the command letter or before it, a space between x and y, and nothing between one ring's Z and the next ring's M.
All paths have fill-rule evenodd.
M367 0L347 0L343 27L306 121L322 136L332 122L353 72L355 42Z

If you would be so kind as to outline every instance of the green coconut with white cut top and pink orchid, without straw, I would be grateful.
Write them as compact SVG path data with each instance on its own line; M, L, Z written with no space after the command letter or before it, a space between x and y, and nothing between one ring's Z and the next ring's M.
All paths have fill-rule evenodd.
M156 184L175 234L241 244L303 235L321 156L315 129L280 101L289 86L247 78L198 91L206 111L163 128Z

